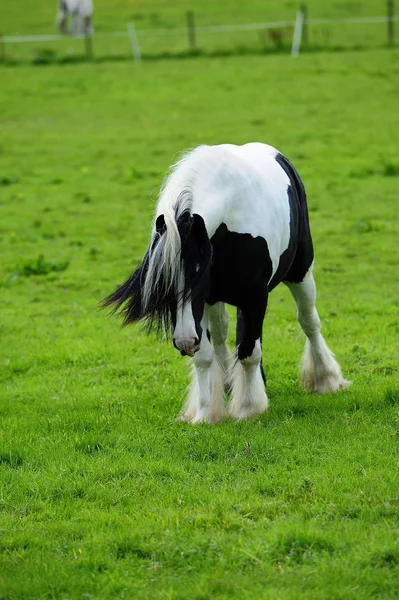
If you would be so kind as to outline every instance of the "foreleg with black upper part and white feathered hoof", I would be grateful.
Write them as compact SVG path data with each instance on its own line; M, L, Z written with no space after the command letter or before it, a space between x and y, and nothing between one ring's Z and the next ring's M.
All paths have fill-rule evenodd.
M237 361L233 370L233 393L229 407L234 419L246 419L267 410L268 399L262 374L262 324L267 294L259 295L251 307L242 309L237 327Z

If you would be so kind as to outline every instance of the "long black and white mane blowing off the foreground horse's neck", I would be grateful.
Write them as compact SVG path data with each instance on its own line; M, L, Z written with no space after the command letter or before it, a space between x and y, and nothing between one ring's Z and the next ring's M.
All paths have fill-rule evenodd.
M195 296L210 270L211 244L204 222L192 215L195 172L184 155L172 167L165 180L157 204L150 243L142 263L101 307L120 312L123 324L143 320L147 329L169 335L174 327L178 303ZM203 229L202 260L194 276L190 276L183 260L184 249L196 229L199 217Z

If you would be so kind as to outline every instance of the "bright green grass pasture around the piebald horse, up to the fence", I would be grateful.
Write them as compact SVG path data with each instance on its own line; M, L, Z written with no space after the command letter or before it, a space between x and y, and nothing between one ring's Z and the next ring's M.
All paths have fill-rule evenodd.
M1 68L2 599L398 596L398 76L387 49ZM302 391L278 288L269 412L187 426L186 359L97 303L179 153L254 140L305 182L353 386Z

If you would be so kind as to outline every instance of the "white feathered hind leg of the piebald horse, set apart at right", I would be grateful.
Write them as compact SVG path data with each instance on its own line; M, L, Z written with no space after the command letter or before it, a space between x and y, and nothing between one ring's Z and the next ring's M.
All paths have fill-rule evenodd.
M325 394L338 392L351 385L344 379L334 354L322 334L316 310L316 285L309 269L300 283L284 282L297 305L298 321L306 335L305 352L301 363L301 380L308 392Z

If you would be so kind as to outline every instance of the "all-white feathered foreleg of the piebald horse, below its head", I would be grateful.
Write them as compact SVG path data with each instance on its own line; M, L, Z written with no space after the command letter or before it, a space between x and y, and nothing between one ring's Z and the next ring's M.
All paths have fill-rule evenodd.
M206 309L205 309L206 310ZM206 331L208 317L201 322L200 348L193 357L192 380L180 419L186 423L217 423L227 418L224 404L224 373Z

